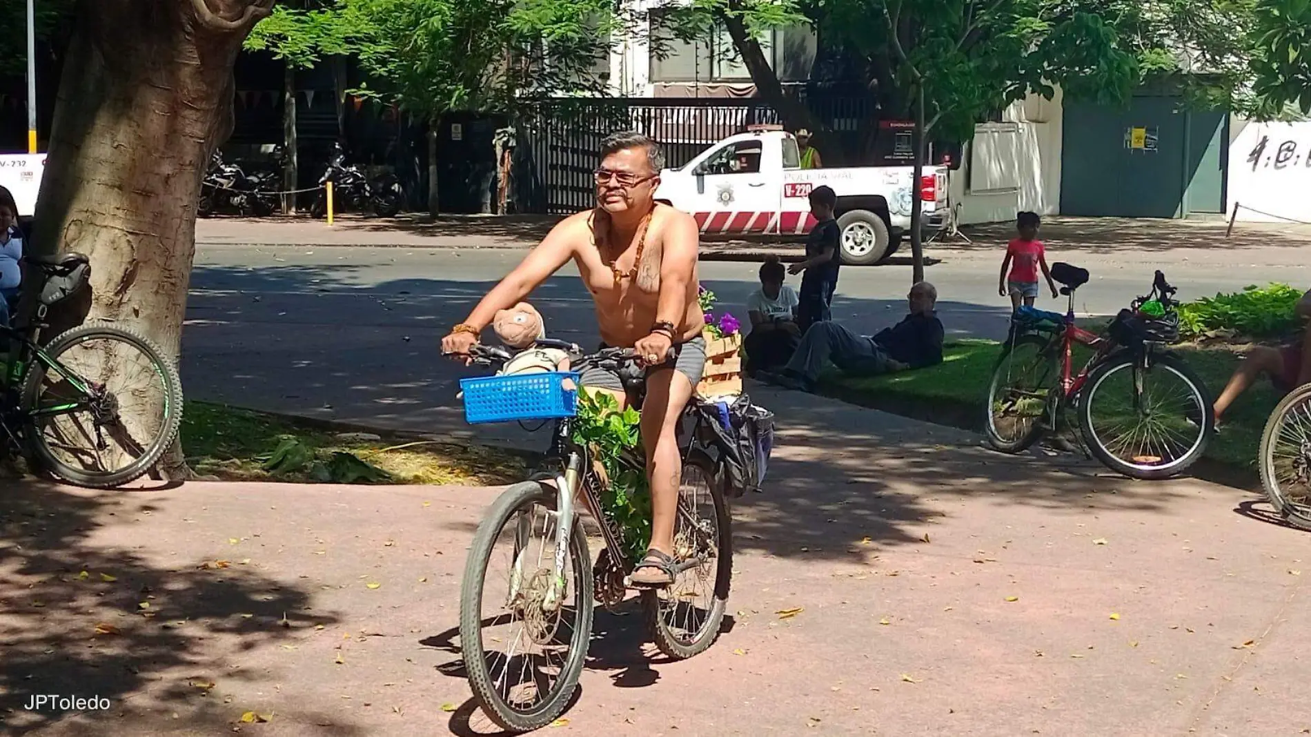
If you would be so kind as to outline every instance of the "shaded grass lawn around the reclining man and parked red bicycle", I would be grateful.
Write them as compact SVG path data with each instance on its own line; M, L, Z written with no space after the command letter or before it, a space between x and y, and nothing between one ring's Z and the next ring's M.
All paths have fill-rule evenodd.
M1206 384L1211 400L1242 359L1242 354L1227 346L1176 350ZM1000 344L991 341L949 342L939 366L864 379L834 371L823 376L821 391L864 407L978 430L983 426L987 383L1000 351ZM1087 349L1083 354L1076 350L1075 366L1082 366L1089 355ZM1248 389L1226 416L1223 431L1211 438L1206 456L1255 471L1261 430L1276 404L1278 395L1269 382Z

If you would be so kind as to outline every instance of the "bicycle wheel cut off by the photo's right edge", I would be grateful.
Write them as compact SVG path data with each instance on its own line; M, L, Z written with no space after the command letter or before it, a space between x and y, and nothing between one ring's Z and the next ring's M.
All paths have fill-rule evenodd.
M1261 485L1289 523L1311 530L1311 384L1274 408L1261 433Z

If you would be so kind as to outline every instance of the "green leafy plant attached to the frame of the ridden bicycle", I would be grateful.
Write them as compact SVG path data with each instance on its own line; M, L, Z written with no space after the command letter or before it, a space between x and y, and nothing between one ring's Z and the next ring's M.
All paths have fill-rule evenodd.
M606 471L600 505L619 525L624 552L637 560L652 539L652 494L646 473L623 462L625 451L637 448L640 416L636 409L619 409L604 392L578 392L578 414L572 439L587 447L595 463Z

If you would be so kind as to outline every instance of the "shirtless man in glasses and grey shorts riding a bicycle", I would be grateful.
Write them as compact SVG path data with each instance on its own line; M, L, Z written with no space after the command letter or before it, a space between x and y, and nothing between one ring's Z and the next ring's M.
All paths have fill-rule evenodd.
M595 172L597 206L562 220L442 340L446 354L468 355L498 309L507 309L566 262L578 266L597 307L607 346L632 348L645 368L641 438L652 490L652 542L633 570L637 586L674 581L674 518L682 473L678 420L705 367L704 320L697 303L696 222L657 203L665 156L650 138L611 135ZM624 380L582 372L590 391L624 401Z

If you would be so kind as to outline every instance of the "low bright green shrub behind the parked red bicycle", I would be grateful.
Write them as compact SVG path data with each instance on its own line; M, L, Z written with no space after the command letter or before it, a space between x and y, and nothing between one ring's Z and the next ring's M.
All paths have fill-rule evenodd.
M1180 306L1180 332L1184 337L1210 330L1235 330L1251 338L1283 337L1301 327L1293 315L1302 291L1280 283L1202 298Z

